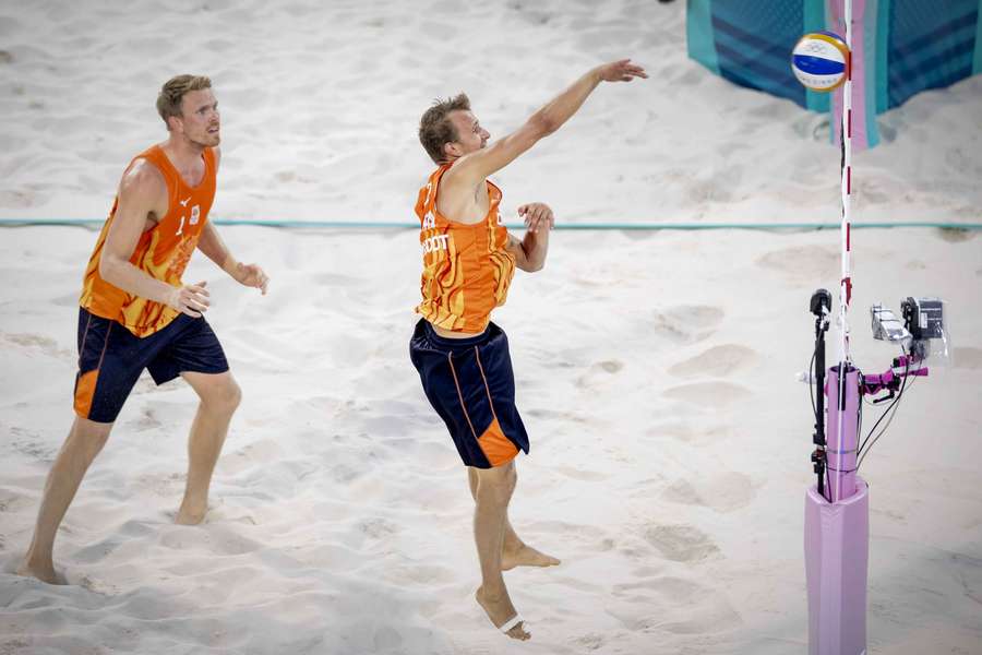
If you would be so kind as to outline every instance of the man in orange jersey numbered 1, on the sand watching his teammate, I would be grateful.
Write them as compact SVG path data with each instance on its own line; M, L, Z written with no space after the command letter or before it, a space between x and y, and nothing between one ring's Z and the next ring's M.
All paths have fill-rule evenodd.
M208 308L205 283L185 285L181 274L196 248L240 284L266 293L263 270L239 263L208 222L220 158L211 81L197 75L169 80L157 110L169 136L136 155L123 172L85 270L76 416L48 474L34 538L17 571L49 583L57 581L58 526L143 369L157 384L181 376L201 398L176 521L204 519L212 472L240 392L202 315Z

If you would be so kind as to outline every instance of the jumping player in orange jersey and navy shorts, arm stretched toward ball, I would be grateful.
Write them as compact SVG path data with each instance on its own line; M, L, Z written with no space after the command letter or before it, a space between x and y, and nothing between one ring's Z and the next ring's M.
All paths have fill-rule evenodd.
M477 602L496 628L523 641L531 635L512 605L502 571L560 562L526 546L508 522L517 481L514 458L519 450L528 452L528 436L515 407L507 337L490 314L504 305L516 265L535 272L546 263L554 221L542 203L522 205L518 214L528 230L520 241L511 236L498 212L501 190L488 176L555 132L600 82L634 78L647 74L630 59L595 68L491 145L464 94L434 104L419 126L419 140L439 168L416 203L423 250L422 302L416 311L422 318L409 343L410 357L468 467L481 564Z

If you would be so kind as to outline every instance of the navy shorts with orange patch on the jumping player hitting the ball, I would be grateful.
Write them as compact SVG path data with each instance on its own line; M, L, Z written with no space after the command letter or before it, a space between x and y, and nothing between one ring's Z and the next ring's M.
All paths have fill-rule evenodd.
M409 358L465 465L491 468L507 464L519 450L528 453L508 337L501 327L489 323L477 336L443 338L420 319Z

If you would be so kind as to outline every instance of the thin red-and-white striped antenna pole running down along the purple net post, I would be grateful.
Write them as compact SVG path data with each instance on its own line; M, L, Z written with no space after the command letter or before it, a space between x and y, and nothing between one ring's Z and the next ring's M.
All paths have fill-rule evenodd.
M836 406L839 408L838 439L839 462L845 458L842 450L842 427L846 416L843 390L846 388L846 365L849 362L849 300L852 295L852 279L849 276L849 205L852 194L852 0L845 0L846 9L846 47L848 48L848 61L846 62L846 84L842 86L842 225L839 230L839 240L842 250L842 275L839 282L839 397ZM836 498L842 497L841 464L836 469Z

